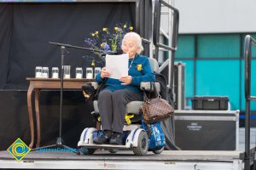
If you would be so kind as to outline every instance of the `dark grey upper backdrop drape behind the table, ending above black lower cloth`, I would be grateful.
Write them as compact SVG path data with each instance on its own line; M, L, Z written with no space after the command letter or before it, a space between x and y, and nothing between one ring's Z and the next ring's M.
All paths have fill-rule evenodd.
M0 89L27 89L35 66L59 66L61 49L49 42L83 47L90 32L125 22L134 26L135 3L0 4ZM67 51L64 62L72 65L73 77L75 67L85 70L94 55Z

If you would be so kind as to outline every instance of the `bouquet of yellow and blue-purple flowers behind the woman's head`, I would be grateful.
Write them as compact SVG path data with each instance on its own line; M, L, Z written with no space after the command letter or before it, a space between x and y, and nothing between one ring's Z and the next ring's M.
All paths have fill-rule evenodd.
M133 31L133 27L127 23L117 24L113 29L103 27L102 30L94 31L89 37L85 37L84 45L98 55L116 52L121 48L122 39L129 31Z

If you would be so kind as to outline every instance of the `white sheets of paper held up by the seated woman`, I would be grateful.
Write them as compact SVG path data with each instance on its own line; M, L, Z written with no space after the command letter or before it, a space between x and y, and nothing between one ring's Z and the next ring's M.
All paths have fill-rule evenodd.
M128 54L107 54L106 68L110 73L110 78L119 79L122 76L128 76Z

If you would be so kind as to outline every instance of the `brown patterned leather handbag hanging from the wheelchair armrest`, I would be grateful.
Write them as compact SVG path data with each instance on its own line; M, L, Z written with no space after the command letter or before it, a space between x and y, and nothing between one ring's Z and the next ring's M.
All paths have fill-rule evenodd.
M155 87L154 93L157 93ZM144 95L141 111L143 111L143 121L147 124L161 122L174 113L172 105L165 99L161 99L159 94L158 97L153 99L148 99L148 96Z

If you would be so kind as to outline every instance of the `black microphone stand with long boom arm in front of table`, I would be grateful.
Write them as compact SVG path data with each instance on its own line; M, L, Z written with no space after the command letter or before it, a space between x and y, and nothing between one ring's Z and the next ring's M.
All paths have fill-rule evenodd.
M63 148L63 149L67 149L70 150L72 152L75 152L77 154L79 154L79 150L75 150L65 144L63 144L63 139L62 139L62 110L63 110L63 70L64 70L64 58L65 58L65 51L66 48L79 48L79 49L84 49L90 52L99 52L102 54L106 54L105 51L102 50L96 50L96 49L92 49L92 48L83 48L83 47L79 47L79 46L73 46L70 44L64 44L64 43L60 43L60 42L49 42L49 44L52 45L56 45L56 46L60 46L61 47L61 102L60 102L60 127L59 127L59 137L56 139L56 144L52 144L52 145L48 145L48 146L43 146L43 147L39 147L33 150L41 150L41 149L47 149L47 148L55 148L57 147L59 148ZM114 51L109 51L107 54L116 54L117 52Z

